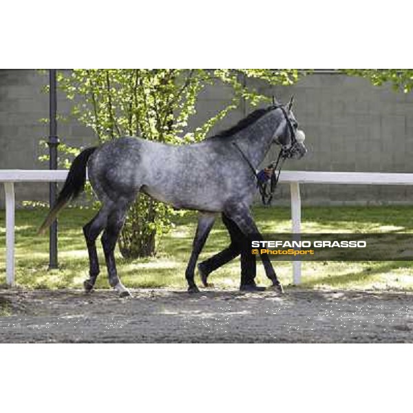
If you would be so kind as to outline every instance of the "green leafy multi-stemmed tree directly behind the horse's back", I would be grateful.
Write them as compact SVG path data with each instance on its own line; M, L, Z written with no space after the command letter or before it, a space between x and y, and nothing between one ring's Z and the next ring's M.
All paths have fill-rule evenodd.
M291 85L298 77L297 70L72 70L59 73L59 87L73 100L72 114L94 130L99 142L140 136L184 145L204 139L241 100L257 105L269 99L247 86L246 79ZM189 130L200 92L216 83L229 85L232 97L203 125ZM70 156L78 152L67 145L60 145L59 150ZM156 235L171 228L173 213L171 207L141 194L120 234L123 256L153 255Z

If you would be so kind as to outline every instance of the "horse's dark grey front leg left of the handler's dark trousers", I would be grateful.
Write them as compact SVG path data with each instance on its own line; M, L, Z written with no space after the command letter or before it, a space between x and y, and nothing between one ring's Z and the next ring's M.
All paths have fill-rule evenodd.
M188 282L189 293L199 293L198 287L194 281L195 265L198 257L204 248L204 244L207 241L209 232L215 222L215 213L201 213L198 216L198 226L195 232L195 238L193 239L192 253L189 258L187 270L185 271L185 278Z

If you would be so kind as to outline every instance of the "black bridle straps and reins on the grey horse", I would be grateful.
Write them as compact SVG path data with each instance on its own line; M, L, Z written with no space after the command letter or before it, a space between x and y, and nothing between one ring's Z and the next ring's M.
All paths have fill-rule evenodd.
M274 105L273 109L281 109L282 114L284 115L284 118L286 119L286 123L288 126L288 129L290 131L290 145L286 147L286 145L282 145L280 142L279 144L282 145L281 149L279 150L277 160L271 162L270 165L268 165L268 169L273 169L273 173L271 174L270 178L270 188L268 190L268 183L267 182L260 182L257 172L255 171L255 168L251 164L250 160L246 157L245 153L242 151L242 149L237 145L237 142L233 142L233 145L237 148L237 150L241 153L242 158L246 161L248 166L250 167L251 171L253 171L253 174L255 178L257 179L257 187L260 189L260 194L261 194L261 199L262 203L264 205L269 205L271 204L271 201L273 200L274 192L278 184L279 176L281 174L281 169L282 165L284 164L284 160L287 158L291 158L296 150L297 147L297 137L295 136L295 130L293 125L291 124L291 120L288 117L288 114L286 112L286 109L283 105ZM277 169L278 168L278 169Z

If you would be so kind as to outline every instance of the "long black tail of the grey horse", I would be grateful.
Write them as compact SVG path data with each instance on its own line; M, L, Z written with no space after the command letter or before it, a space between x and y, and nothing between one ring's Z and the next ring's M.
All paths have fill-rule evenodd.
M57 197L56 204L54 204L54 207L48 213L43 224L41 224L38 233L43 233L45 229L49 228L59 211L63 209L70 200L76 198L79 193L84 191L87 160L89 160L89 156L91 156L95 150L96 147L87 148L74 158L72 165L70 165L65 184Z

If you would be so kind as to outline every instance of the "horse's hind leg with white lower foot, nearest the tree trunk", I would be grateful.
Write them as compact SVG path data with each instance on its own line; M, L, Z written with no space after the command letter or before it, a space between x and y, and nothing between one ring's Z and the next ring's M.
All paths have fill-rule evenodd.
M118 240L123 223L125 222L125 217L129 205L129 201L124 202L122 200L114 205L107 218L107 226L101 238L103 252L105 253L109 284L114 287L116 291L118 291L120 297L127 297L131 295L131 293L129 293L129 290L127 290L127 288L125 288L125 286L123 286L123 284L120 282L118 272L116 270L114 255L116 242Z

